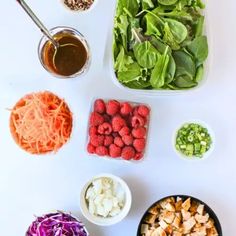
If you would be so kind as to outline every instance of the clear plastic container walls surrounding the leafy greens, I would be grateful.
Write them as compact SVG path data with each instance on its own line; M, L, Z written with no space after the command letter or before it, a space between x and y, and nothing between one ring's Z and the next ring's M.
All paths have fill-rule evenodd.
M118 2L119 0L117 0ZM205 2L205 1L204 1ZM116 5L116 4L115 4ZM205 12L204 12L205 13ZM112 39L113 39L113 28L114 28L114 17L116 14L116 6L114 8L114 13L113 13L113 18L111 20L111 25L109 27L109 33L108 33L108 37L107 37L107 45L106 45L106 52L105 52L105 69L108 71L109 75L111 76L111 79L113 81L113 83L119 87L120 89L132 93L132 94L136 94L136 95L144 95L144 96L170 96L170 95L178 95L178 94L186 94L188 92L192 92L192 91L196 91L199 88L201 88L208 77L208 73L209 73L209 67L210 67L210 53L206 59L206 61L204 62L204 74L203 74L203 78L202 80L198 83L198 85L196 87L193 88L189 88L189 89L182 89L182 90L145 90L145 89L132 89L129 87L124 86L122 83L120 83L116 77L116 73L114 70L114 62L113 62L113 51L112 51ZM207 18L207 14L204 14L205 16L205 24L204 24L204 34L207 36L208 39L208 46L210 49L210 42L211 42L211 38L210 38L210 34L209 34L209 28L208 28L208 18Z

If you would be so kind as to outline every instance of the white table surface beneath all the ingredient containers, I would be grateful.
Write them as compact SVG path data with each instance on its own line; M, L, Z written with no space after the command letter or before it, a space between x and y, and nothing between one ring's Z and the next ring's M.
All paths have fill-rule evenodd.
M87 38L93 55L89 73L77 80L57 80L40 65L41 33L16 1L0 7L0 235L23 236L33 215L59 209L80 217L91 236L135 236L147 207L170 194L190 194L209 204L225 236L235 236L236 219L236 27L234 0L207 3L210 29L210 71L207 83L194 93L170 97L132 95L117 88L104 70L104 51L114 0L98 0L87 14L66 11L60 0L29 0L50 28L72 26ZM9 111L26 93L50 90L64 97L76 125L71 141L54 156L30 156L13 142ZM140 164L89 158L86 125L93 97L111 97L152 106L148 155ZM176 126L189 119L208 123L216 146L203 161L176 156L171 138ZM133 193L128 217L111 227L87 222L79 209L81 187L92 176L109 172L121 176Z

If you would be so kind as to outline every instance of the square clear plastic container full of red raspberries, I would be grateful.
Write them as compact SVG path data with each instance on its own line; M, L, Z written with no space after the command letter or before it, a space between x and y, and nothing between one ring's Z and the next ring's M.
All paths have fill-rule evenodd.
M99 108L99 103L103 108ZM87 153L106 160L134 163L143 160L147 151L150 114L150 106L144 103L93 99L87 125Z

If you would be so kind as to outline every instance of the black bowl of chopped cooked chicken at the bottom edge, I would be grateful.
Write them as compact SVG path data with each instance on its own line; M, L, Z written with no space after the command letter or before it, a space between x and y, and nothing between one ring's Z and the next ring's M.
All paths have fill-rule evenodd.
M137 236L222 236L220 222L204 202L185 195L155 202L140 221Z

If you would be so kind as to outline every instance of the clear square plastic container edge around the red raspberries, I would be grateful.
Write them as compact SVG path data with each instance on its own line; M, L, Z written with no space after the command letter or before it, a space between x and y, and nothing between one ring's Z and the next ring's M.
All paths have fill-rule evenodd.
M105 103L107 103L109 100L116 100L118 101L120 104L124 103L124 102L128 102L130 103L130 105L132 105L132 107L134 106L139 106L139 105L145 105L149 108L150 110L150 113L149 113L149 116L146 120L146 124L145 124L145 128L146 128L146 136L145 136L145 140L146 140L146 145L145 145L145 149L144 151L142 152L143 156L140 160L124 160L122 159L122 157L118 157L118 158L112 158L110 156L98 156L96 153L94 154L91 154L87 151L87 145L89 144L90 142L90 135L89 135L89 128L90 128L90 124L89 124L89 119L90 119L90 115L91 113L93 112L93 107L94 107L94 102L97 100L97 99L102 99ZM94 98L92 99L91 101L91 107L90 107L90 111L89 111L89 116L88 116L88 123L87 123L87 140L86 140L86 146L85 146L85 149L86 149L86 152L88 153L89 156L91 156L92 158L101 158L101 159L105 159L105 160L109 160L109 161L125 161L127 163L139 163L141 161L143 161L143 159L145 158L145 155L147 153L147 150L148 150L148 138L149 138L149 126L150 126L150 117L151 117L151 107L148 105L148 104L145 104L145 103L137 103L137 102L132 102L132 101L127 101L127 100L117 100L117 99L112 99L112 98ZM111 134L112 135L112 134Z

